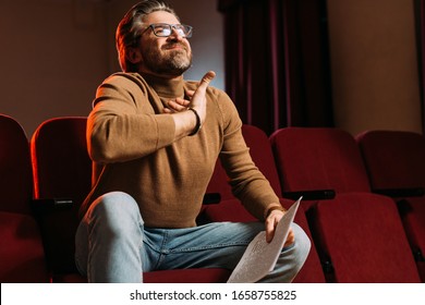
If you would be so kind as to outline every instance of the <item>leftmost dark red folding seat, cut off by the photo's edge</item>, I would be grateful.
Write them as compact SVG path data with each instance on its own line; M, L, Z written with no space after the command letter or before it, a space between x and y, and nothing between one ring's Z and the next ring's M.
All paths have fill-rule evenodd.
M0 114L0 282L48 282L39 227L32 215L29 146L22 126Z

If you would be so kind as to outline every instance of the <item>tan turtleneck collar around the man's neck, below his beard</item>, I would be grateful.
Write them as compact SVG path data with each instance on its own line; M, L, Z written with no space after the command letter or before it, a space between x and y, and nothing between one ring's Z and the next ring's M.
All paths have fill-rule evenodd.
M141 74L159 97L175 98L184 96L183 75L168 80L151 74Z

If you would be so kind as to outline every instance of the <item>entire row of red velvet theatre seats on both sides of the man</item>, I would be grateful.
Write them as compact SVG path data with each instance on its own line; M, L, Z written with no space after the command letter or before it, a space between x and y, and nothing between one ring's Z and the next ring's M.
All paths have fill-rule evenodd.
M84 282L73 260L76 210L90 187L86 118L44 122L31 138L0 115L1 282ZM243 135L284 206L313 241L294 282L425 282L425 138L410 132L288 127ZM199 223L254 221L218 162ZM33 186L34 182L34 186ZM34 190L34 194L33 194ZM207 197L207 196L206 196ZM207 202L207 200L206 200ZM146 282L226 282L223 269L144 273Z

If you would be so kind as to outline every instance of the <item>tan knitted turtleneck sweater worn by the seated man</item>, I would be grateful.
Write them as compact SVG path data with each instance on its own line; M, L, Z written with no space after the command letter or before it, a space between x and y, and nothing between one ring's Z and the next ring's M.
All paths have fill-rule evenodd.
M117 73L99 86L87 123L93 190L82 215L98 196L121 191L138 203L146 227L194 227L218 157L234 195L258 219L269 204L279 203L253 163L238 111L222 90L208 87L199 133L173 142L174 121L162 113L165 101L196 85L183 77Z

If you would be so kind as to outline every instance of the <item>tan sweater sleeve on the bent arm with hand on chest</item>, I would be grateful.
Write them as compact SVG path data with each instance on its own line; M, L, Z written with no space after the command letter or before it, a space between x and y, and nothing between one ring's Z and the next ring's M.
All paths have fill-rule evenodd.
M145 157L173 141L174 121L142 80L116 74L98 88L87 120L87 146L98 163ZM157 108L157 109L155 109Z

